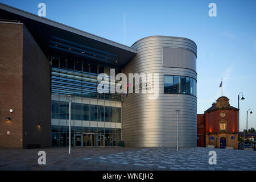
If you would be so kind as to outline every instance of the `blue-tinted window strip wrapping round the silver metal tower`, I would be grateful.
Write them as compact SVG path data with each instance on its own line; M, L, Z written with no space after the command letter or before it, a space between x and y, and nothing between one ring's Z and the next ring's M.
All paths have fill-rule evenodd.
M196 96L196 80L188 76L164 75L164 93Z

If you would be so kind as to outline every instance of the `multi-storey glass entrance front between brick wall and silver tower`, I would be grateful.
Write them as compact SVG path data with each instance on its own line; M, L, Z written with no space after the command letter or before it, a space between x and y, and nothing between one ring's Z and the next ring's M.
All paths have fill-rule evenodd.
M96 60L52 54L52 147L69 142L69 101L71 103L72 146L121 145L121 94L97 93L97 75L114 67ZM114 68L116 74L119 68ZM110 86L109 86L110 89Z

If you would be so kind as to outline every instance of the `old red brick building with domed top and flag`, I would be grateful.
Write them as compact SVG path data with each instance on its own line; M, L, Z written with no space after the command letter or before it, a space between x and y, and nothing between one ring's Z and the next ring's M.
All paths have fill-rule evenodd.
M238 148L238 109L220 97L204 114L197 114L197 146Z

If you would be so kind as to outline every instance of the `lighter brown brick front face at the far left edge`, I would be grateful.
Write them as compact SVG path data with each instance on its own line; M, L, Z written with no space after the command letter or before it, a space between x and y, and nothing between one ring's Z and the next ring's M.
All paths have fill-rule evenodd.
M0 148L22 148L22 36L22 24L0 23Z

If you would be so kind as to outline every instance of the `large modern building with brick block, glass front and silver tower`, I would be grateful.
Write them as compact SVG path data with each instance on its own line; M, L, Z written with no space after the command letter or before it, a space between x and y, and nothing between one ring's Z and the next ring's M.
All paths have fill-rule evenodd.
M196 147L192 40L150 36L128 47L2 3L0 19L0 148L67 147L68 95L72 146L176 147L179 118L179 147ZM97 76L112 79L110 69L158 77L142 76L140 93L99 93ZM154 100L142 93L151 87Z

